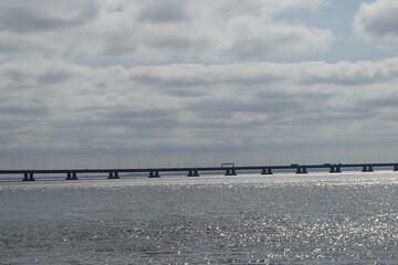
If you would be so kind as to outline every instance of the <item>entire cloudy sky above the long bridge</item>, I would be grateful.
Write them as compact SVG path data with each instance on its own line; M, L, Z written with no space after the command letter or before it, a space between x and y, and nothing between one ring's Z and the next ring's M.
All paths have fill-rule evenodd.
M396 0L3 0L0 167L398 160Z

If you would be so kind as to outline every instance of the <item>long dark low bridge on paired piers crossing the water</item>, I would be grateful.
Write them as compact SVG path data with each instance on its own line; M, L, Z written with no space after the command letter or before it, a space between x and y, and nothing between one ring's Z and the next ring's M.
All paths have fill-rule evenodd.
M231 163L233 165L233 163ZM260 170L261 174L273 174L273 170L295 170L296 173L307 173L310 169L329 169L331 173L339 173L344 168L359 168L363 172L373 172L374 168L392 168L398 171L398 162L394 163L322 163L289 166L252 166L252 167L189 167L189 168L146 168L146 169L21 169L0 170L0 174L21 174L23 181L34 181L34 174L65 174L66 180L77 180L78 173L107 173L108 179L119 179L119 173L148 173L148 178L160 178L161 172L187 172L187 177L199 177L199 172L224 171L224 176L235 176L237 171Z

